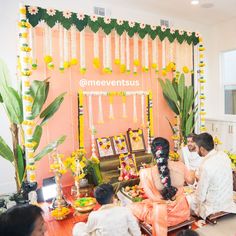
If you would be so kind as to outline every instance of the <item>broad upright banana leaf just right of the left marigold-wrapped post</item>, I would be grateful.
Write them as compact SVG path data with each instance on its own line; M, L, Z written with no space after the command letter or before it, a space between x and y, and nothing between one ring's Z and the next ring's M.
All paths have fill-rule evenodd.
M33 97L32 117L39 115L46 97L46 83L44 81L34 80L31 84L31 95Z

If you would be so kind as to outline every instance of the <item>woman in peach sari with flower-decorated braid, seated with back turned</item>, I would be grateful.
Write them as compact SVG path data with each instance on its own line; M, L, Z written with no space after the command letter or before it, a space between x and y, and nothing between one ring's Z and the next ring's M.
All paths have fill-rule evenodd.
M193 183L194 176L180 161L170 161L169 142L155 138L152 153L157 165L140 171L140 185L148 199L132 203L133 214L152 225L152 235L167 235L169 226L190 218L190 208L184 194L184 183Z

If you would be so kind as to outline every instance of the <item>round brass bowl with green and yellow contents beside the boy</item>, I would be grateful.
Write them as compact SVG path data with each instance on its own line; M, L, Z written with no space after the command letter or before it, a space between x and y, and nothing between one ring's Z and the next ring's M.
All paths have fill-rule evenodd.
M96 205L96 199L92 197L83 197L73 202L73 207L76 211L86 213L92 211Z

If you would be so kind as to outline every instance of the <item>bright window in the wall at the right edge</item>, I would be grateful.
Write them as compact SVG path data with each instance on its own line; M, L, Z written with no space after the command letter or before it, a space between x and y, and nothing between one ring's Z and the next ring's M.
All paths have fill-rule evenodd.
M236 115L236 50L222 53L224 113Z

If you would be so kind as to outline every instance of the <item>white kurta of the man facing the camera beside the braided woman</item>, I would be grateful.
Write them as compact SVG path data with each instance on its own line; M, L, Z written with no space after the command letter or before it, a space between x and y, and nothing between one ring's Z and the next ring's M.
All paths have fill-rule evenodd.
M198 170L202 162L202 157L197 152L190 152L187 146L182 148L182 158L189 170Z

